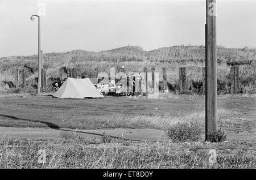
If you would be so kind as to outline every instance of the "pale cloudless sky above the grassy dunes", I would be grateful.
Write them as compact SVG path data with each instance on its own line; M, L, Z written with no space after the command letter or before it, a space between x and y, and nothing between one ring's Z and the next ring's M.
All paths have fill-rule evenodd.
M38 20L30 17L40 2L44 53L205 42L205 0L0 0L0 57L38 53ZM256 0L217 0L216 11L218 45L256 47Z

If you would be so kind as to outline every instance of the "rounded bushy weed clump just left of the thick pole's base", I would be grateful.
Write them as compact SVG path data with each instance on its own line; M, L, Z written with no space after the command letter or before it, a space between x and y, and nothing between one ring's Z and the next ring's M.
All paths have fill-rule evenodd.
M176 123L167 128L167 135L172 142L189 142L200 139L201 128L198 123Z

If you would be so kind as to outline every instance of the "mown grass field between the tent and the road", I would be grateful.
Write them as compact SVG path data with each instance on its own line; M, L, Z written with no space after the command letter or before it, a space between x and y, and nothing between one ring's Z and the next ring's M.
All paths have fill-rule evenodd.
M47 96L3 96L0 126L50 128L164 128L176 122L204 127L202 96L109 97L60 99ZM255 131L256 98L219 96L219 126L226 131Z

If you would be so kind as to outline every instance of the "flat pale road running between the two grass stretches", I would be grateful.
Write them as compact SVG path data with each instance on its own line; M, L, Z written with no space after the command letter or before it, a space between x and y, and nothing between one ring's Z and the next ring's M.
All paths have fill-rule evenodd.
M139 141L165 141L168 140L165 132L154 129L128 129L128 128L114 128L104 130L71 130L68 128L52 129L52 128L30 128L30 127L0 127L0 138L3 137L19 137L28 139L57 139L61 132L76 132L79 136L85 139L100 140L102 135L115 136L117 138L125 138L129 140ZM204 135L202 135L204 140ZM235 141L255 141L255 134L228 134L228 140Z

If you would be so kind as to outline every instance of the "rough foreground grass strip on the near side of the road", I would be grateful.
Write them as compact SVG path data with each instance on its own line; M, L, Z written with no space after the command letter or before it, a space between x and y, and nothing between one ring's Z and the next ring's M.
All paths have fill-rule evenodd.
M81 138L72 143L73 135L61 136L65 141L0 140L0 168L256 168L255 142L129 142L127 146L83 143ZM217 155L213 165L210 149ZM43 163L38 152L45 152Z

